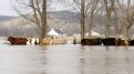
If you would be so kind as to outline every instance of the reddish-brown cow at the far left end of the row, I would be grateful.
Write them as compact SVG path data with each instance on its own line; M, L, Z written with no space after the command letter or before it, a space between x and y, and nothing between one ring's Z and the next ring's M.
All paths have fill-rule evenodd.
M10 43L12 45L25 45L28 39L27 38L13 38L13 36L9 36L8 41L10 41Z

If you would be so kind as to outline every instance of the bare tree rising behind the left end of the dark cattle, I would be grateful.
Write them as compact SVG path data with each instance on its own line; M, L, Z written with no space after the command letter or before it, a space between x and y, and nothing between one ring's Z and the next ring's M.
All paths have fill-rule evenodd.
M99 0L72 0L68 6L72 8L72 11L79 13L79 21L81 28L81 39L84 39L85 33L85 20L90 17L89 33L91 34L93 19Z

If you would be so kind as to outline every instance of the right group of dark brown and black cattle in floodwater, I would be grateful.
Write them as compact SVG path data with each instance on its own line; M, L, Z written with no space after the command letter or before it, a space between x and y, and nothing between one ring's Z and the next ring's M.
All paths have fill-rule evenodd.
M82 45L134 45L134 40L123 40L115 38L96 38L96 39L83 39L81 41Z

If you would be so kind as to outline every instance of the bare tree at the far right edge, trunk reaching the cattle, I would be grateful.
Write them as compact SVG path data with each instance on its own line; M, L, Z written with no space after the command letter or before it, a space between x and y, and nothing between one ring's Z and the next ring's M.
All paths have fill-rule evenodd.
M128 44L127 40L131 38L130 30L132 25L134 24L134 3L132 0L127 0L126 4L118 3L121 13L124 20L124 36L125 36L125 42Z

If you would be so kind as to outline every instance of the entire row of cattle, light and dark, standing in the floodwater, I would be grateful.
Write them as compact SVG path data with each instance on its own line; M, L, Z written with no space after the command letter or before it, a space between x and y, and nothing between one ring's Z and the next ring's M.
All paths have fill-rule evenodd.
M8 41L12 45L25 45L29 43L33 43L35 45L38 44L43 44L43 45L49 45L49 44L68 44L69 40L64 39L35 39L34 42L32 42L32 39L27 39L27 38L13 38L9 36ZM126 41L122 39L115 40L115 38L95 38L95 39L83 39L80 40L80 42L76 42L75 39L70 40L72 44L82 44L82 45L126 45ZM127 40L127 45L134 45L134 40Z

